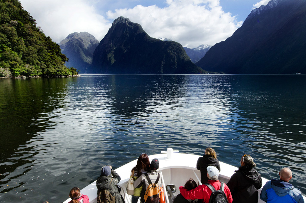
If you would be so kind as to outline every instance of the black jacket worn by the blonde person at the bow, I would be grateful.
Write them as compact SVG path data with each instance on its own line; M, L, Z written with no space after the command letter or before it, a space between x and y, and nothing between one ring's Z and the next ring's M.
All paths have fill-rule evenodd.
M218 159L211 157L210 155L204 154L203 157L199 157L196 162L196 169L201 171L201 183L208 183L207 170L208 166L217 167L220 172L220 164Z

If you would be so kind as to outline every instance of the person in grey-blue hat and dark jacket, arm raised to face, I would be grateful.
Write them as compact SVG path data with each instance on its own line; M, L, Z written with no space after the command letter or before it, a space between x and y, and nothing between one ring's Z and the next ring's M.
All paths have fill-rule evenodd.
M120 176L111 166L104 166L101 169L101 175L97 178L96 186L98 190L108 190L113 197L116 197L116 203L124 203L117 187L120 180Z

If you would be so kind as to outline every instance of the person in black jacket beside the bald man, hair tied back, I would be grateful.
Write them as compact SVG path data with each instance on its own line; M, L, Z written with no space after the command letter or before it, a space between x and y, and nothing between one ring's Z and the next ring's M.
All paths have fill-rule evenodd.
M233 203L257 203L258 189L261 188L261 175L254 169L256 163L250 155L243 155L241 167L235 171L226 184L232 193Z

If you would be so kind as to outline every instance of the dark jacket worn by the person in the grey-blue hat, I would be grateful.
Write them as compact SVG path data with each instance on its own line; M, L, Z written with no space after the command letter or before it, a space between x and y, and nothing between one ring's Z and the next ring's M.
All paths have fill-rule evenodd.
M99 176L97 178L96 186L98 189L106 189L111 193L111 195L116 196L116 203L124 203L116 186L121 178L114 170L112 170L112 176L113 177ZM113 179L113 181L111 181L111 179Z

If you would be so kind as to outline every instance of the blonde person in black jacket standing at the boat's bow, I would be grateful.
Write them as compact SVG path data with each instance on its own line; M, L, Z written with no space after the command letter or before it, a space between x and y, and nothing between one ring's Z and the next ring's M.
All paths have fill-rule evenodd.
M196 169L201 171L202 184L208 183L207 169L206 169L208 166L214 166L218 168L219 172L221 171L220 164L217 159L217 154L215 150L210 147L206 148L205 154L203 155L203 157L199 157L196 163Z

